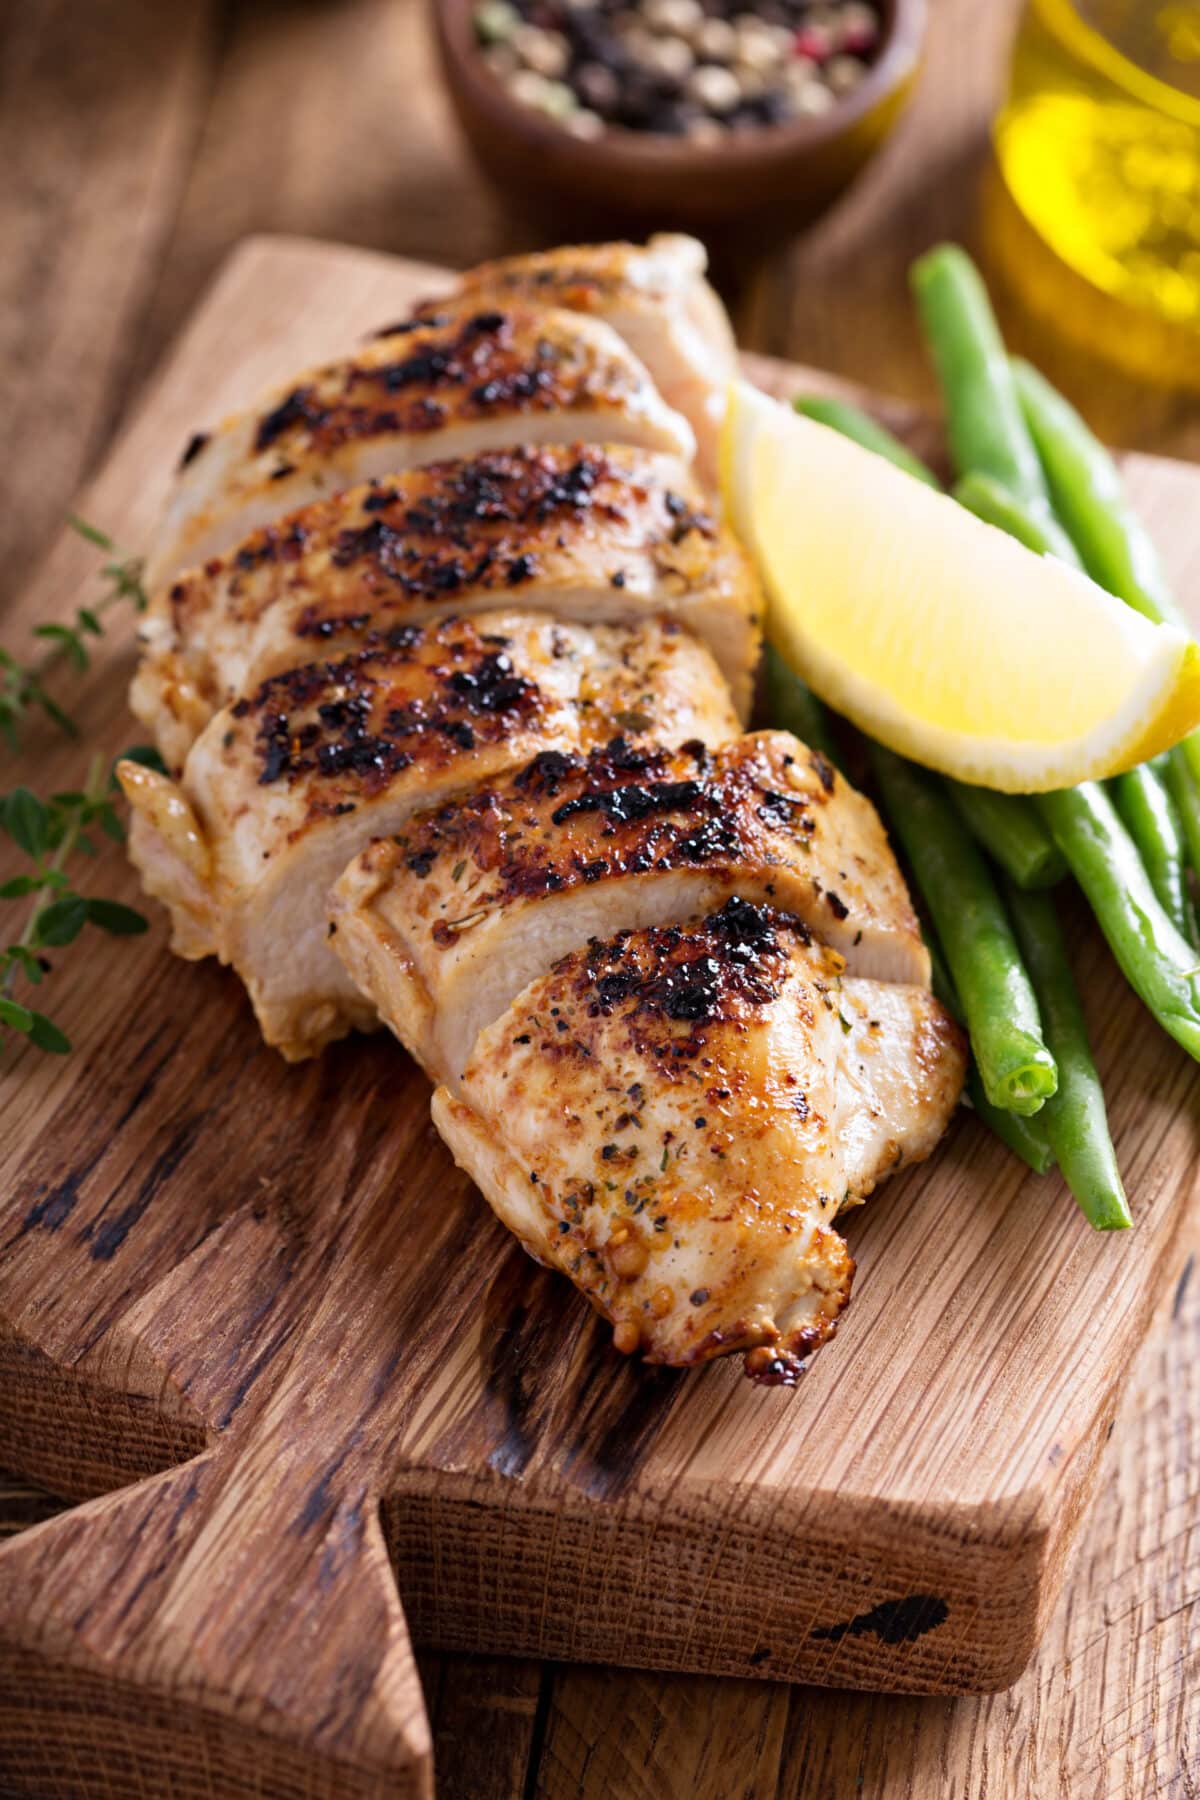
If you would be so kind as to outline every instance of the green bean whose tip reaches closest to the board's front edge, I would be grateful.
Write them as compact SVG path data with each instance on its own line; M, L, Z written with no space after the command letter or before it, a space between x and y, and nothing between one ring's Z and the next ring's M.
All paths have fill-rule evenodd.
M1007 913L1038 995L1042 1030L1058 1064L1058 1093L1045 1102L1036 1123L1045 1129L1054 1159L1088 1224L1097 1231L1124 1231L1133 1220L1054 904L1049 895L1009 887Z

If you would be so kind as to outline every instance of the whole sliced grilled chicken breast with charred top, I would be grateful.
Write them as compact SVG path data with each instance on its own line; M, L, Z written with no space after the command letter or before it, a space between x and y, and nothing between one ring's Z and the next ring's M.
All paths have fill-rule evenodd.
M964 1042L871 805L738 736L761 592L691 473L734 367L700 245L579 247L198 434L131 695L175 778L119 776L270 1044L381 1015L621 1350L788 1382Z

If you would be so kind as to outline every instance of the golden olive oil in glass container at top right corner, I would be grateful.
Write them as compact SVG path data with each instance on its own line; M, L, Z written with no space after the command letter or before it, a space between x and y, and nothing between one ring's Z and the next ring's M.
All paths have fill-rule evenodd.
M995 149L1070 270L1200 331L1200 0L1027 0Z

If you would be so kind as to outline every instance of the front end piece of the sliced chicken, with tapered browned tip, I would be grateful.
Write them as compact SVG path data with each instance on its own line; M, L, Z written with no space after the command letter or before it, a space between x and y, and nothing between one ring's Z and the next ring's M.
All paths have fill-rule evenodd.
M837 1211L930 1154L964 1049L925 988L842 981L745 900L554 965L480 1037L434 1121L491 1208L619 1350L745 1350L795 1381L853 1262Z

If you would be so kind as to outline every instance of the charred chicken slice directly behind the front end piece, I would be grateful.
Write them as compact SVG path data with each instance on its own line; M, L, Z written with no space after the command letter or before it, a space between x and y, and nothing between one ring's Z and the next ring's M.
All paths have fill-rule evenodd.
M795 914L851 970L928 986L928 954L871 803L783 731L711 752L617 740L425 812L333 891L336 950L435 1080L592 936L730 895Z

